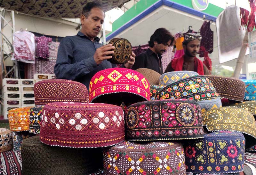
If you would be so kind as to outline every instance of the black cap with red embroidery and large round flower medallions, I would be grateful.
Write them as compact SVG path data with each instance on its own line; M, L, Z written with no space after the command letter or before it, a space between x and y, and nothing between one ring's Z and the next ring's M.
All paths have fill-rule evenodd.
M155 100L135 103L125 112L126 138L132 141L201 138L199 106L191 100Z

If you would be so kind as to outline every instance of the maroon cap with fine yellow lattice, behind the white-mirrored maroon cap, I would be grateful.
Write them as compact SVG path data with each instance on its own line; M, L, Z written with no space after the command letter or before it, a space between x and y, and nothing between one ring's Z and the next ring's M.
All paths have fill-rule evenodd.
M84 84L62 79L39 81L34 86L35 104L52 102L88 102L88 91Z

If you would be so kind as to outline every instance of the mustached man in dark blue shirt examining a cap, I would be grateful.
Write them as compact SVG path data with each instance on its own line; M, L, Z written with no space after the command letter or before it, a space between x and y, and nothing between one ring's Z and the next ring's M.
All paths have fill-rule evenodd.
M105 14L98 3L87 3L81 15L82 29L76 36L67 36L60 42L54 73L59 79L78 81L89 89L90 81L96 72L113 68L116 65L107 60L112 58L115 48L111 44L99 43L101 25ZM132 68L135 54L122 67Z

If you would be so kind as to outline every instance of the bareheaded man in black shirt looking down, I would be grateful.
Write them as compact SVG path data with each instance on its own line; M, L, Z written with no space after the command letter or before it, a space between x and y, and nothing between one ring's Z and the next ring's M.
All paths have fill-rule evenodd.
M172 45L173 40L174 37L165 28L156 29L148 42L149 48L136 56L132 69L148 68L163 74L161 55Z

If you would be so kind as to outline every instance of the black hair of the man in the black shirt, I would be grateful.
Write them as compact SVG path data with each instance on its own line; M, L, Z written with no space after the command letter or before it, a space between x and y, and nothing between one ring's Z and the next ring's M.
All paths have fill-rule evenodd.
M173 43L174 37L172 34L165 28L156 29L156 31L151 35L150 40L148 41L149 47L154 47L154 41L158 44L165 44L168 41L172 40L171 45Z

